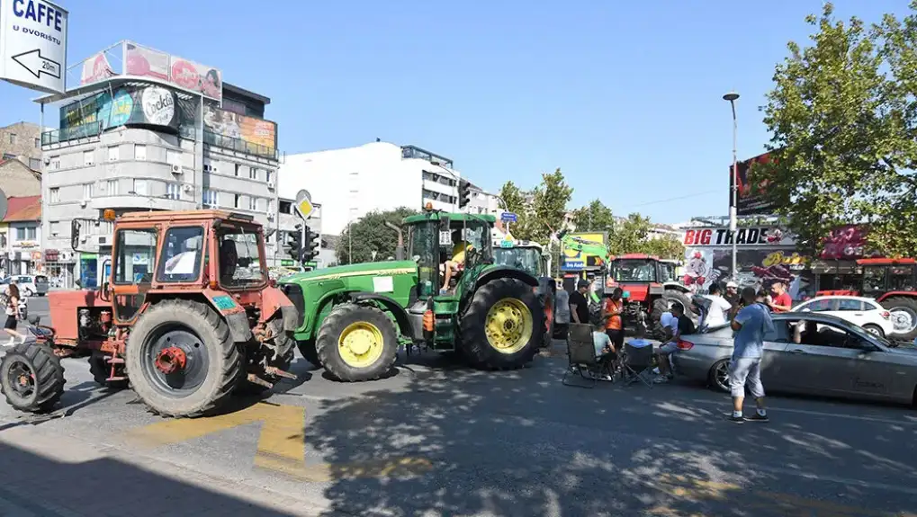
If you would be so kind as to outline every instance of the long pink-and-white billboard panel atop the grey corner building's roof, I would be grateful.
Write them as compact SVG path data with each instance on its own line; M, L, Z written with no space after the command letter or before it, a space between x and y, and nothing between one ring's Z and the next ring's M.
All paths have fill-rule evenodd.
M216 101L223 99L222 71L131 41L124 44L124 73L167 81Z

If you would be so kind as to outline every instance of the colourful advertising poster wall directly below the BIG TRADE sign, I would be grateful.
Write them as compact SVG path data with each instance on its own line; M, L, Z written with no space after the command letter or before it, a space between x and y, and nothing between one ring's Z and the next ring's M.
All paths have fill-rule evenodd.
M802 300L814 292L814 280L807 271L809 262L791 247L738 249L736 281L740 287L756 289L783 281L793 300ZM686 247L681 282L692 292L706 292L714 281L723 283L732 277L732 263L731 247Z

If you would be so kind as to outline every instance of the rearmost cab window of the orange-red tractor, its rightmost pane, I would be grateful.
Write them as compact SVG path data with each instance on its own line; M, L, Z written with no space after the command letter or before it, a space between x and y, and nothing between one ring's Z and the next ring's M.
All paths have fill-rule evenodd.
M244 288L267 281L261 268L262 242L254 229L223 228L216 232L220 285Z

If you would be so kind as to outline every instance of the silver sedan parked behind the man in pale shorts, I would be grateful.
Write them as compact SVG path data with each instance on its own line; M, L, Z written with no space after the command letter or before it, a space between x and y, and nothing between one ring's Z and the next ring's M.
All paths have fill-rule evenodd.
M776 332L765 336L761 379L765 390L917 403L917 349L828 314L773 314ZM672 354L679 375L729 391L733 353L728 325L684 336Z

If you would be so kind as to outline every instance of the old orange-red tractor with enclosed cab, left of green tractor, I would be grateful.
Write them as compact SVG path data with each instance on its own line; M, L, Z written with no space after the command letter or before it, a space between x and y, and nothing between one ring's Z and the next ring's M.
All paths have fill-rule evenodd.
M85 357L104 385L126 385L154 413L212 413L233 391L270 388L288 373L293 303L268 278L264 234L221 210L116 218L111 275L96 291L49 292L50 325L0 361L0 391L19 411L60 400L61 358ZM81 242L72 224L72 247Z

